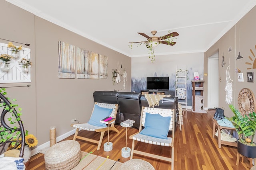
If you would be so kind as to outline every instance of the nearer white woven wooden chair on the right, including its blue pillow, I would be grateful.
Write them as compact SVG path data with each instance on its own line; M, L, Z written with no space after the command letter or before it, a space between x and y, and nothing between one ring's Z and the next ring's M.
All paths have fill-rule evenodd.
M174 109L162 109L153 107L142 107L139 131L130 135L132 139L131 157L133 154L140 154L151 158L172 162L171 169L174 169ZM171 133L169 133L171 131ZM171 136L169 137L168 134ZM143 144L142 144L143 143ZM138 145L160 145L161 147L171 147L169 156L143 152ZM136 149L135 149L136 148Z

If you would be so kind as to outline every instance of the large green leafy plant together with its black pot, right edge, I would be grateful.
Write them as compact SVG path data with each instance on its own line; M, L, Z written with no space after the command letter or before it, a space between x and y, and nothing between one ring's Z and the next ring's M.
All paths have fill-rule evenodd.
M233 111L233 117L226 117L234 125L239 139L237 150L248 158L256 158L256 143L253 142L256 130L256 113L242 115L233 105L229 105Z

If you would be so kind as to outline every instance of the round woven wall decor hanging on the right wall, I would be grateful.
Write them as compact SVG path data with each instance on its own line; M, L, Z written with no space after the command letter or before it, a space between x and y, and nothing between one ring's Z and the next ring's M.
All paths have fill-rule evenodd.
M255 111L255 96L248 88L243 88L238 94L238 109L242 115L249 115Z

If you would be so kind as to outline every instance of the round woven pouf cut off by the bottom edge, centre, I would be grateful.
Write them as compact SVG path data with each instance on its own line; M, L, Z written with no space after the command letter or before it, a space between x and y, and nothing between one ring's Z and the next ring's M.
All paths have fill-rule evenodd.
M131 159L124 162L120 170L155 170L155 168L145 160Z

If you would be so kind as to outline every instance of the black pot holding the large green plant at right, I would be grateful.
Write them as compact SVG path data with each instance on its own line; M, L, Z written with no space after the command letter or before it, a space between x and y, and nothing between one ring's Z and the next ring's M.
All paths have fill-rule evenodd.
M237 151L248 158L256 158L256 146L245 145L240 139L237 142Z

